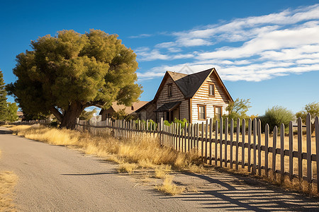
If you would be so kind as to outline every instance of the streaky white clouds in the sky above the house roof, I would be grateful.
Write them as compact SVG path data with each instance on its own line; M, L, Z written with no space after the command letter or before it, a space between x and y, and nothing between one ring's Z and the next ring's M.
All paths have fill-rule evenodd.
M170 35L174 40L137 51L140 60L189 62L154 67L139 73L139 80L162 77L164 71L182 72L184 66L194 72L215 67L220 77L228 81L263 81L319 71L319 4L236 18ZM220 42L224 47L214 47Z

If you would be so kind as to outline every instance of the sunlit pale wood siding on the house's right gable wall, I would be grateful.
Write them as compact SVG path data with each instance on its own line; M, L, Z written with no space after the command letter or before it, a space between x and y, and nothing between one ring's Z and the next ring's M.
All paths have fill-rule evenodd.
M213 83L215 86L215 96L208 95L209 83ZM207 78L196 95L191 99L192 123L203 122L202 120L198 120L198 105L206 105L206 119L214 117L214 106L222 107L223 114L226 114L225 109L228 106L228 97L220 83L218 83L214 73Z

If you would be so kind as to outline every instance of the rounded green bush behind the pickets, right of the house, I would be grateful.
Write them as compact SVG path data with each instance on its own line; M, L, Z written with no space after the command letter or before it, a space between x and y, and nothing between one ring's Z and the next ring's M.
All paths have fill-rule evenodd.
M289 122L294 119L293 112L286 109L286 107L274 106L266 110L265 114L259 117L262 122L262 130L264 126L269 124L269 130L272 131L274 126L280 127L281 124L285 125L285 129L289 127Z

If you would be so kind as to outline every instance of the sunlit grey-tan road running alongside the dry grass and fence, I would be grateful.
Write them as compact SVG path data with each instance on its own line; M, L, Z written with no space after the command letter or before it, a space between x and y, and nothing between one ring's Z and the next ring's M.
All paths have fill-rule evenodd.
M198 189L178 196L156 192L117 165L63 146L31 141L0 128L0 171L18 175L21 211L317 211L318 199L263 187L223 173L177 174Z

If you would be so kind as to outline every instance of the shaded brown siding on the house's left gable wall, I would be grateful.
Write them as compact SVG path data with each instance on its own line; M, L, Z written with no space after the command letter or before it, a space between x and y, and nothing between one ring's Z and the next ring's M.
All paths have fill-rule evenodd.
M167 96L168 92L168 84L172 83L172 97ZM156 108L161 107L164 105L164 103L168 102L177 102L181 101L181 105L179 105L179 119L187 119L189 121L189 101L185 100L185 97L183 93L181 93L181 90L177 87L177 85L174 83L171 77L167 78L167 81L165 82L162 91L159 93L159 98L156 102ZM167 119L166 112L159 112L158 113L158 120L161 119L161 117L164 117L164 119Z

